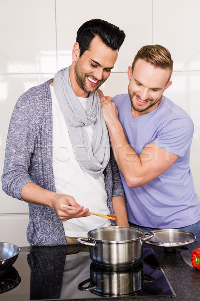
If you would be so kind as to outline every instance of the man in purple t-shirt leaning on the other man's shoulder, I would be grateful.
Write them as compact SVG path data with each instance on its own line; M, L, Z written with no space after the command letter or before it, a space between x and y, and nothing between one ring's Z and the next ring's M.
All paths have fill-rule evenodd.
M128 67L128 94L113 102L103 97L101 104L130 226L143 231L178 228L200 240L200 203L189 166L194 125L163 96L172 71L170 52L146 45Z

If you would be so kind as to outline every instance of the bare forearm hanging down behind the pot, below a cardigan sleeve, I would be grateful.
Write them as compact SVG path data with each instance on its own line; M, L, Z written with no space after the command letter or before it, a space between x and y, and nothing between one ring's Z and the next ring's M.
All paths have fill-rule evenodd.
M113 212L117 217L116 225L129 227L124 198L113 197L112 207L113 207Z

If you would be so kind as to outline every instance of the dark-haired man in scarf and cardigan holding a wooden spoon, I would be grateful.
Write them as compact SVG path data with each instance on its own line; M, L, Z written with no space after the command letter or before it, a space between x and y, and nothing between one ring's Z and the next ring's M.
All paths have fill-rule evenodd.
M74 244L74 238L86 237L89 230L110 225L89 209L114 213L117 225L128 225L96 92L109 77L124 38L122 30L106 21L85 22L78 30L71 66L29 89L14 108L2 187L29 203L31 246Z

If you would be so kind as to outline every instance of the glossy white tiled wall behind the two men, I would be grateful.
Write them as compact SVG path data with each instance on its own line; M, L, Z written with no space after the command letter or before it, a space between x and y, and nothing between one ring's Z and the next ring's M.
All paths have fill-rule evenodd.
M87 0L0 0L0 175L17 98L70 65L78 27L100 18L126 33L114 70L102 86L106 95L127 92L126 71L140 47L161 44L170 50L173 84L165 95L194 121L191 168L200 197L199 11L199 0L101 0L95 5ZM28 205L0 189L0 241L28 245L27 223Z

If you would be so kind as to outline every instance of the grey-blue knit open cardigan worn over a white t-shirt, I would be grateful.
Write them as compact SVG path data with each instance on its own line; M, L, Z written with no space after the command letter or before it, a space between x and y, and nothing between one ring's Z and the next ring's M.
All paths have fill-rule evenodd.
M18 99L10 120L2 189L22 200L21 189L29 182L56 192L52 167L53 79L30 88ZM113 154L104 171L107 206L113 214L112 197L124 196ZM66 245L63 223L51 207L29 203L27 240L30 246Z

